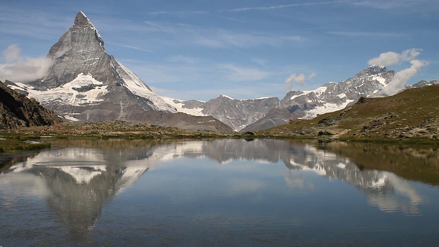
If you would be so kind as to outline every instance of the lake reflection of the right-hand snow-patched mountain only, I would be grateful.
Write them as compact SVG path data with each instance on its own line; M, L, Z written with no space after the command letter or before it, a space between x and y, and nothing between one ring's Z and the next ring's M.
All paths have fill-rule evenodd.
M302 145L300 155L284 160L290 169L314 172L329 179L337 179L354 185L368 196L369 203L383 211L403 211L418 213L418 204L424 199L403 178L390 172L360 169L349 158L326 150L318 150L313 145ZM403 164L401 164L403 165ZM287 178L292 183L295 178Z

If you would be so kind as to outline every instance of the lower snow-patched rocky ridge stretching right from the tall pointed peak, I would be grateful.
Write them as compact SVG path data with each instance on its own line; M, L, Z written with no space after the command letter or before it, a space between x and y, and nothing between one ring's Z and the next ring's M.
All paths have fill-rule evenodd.
M209 102L165 98L179 112L211 115L235 131L265 130L285 124L289 119L311 119L319 114L340 110L359 97L372 95L388 86L394 71L372 65L343 82L329 82L310 91L289 91L277 97L232 99L219 95Z

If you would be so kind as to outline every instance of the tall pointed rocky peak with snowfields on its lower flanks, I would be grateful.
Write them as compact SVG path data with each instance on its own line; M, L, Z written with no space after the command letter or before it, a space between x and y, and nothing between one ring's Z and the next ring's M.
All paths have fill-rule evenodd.
M162 126L231 132L213 117L177 113L145 82L107 54L104 40L83 12L47 55L53 60L45 78L10 83L71 121L121 119Z

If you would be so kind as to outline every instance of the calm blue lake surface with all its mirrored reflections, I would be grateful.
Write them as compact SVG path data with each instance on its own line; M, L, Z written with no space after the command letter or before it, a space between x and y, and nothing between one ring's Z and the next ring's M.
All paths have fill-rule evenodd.
M0 246L438 246L439 150L54 141L0 156Z

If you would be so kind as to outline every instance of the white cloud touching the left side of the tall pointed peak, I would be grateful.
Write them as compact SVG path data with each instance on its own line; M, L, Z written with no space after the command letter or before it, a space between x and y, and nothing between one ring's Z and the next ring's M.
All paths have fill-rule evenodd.
M0 64L0 80L12 82L32 82L44 78L54 60L47 56L21 58L18 45L10 45L3 51L6 63Z

